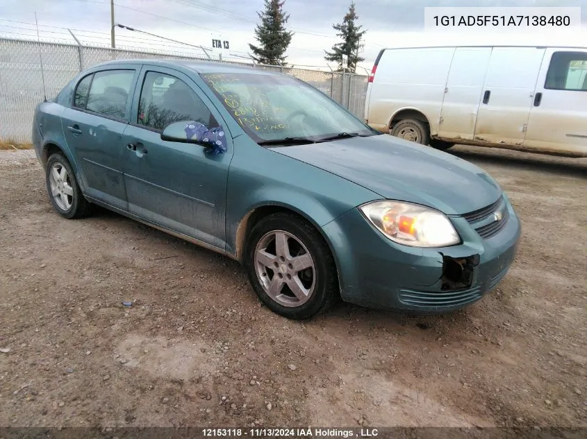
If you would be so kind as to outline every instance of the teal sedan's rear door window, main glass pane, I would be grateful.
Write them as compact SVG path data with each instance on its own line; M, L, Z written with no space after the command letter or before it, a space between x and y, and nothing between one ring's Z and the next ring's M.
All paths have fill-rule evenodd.
M134 70L108 70L94 74L87 110L115 119L126 119Z

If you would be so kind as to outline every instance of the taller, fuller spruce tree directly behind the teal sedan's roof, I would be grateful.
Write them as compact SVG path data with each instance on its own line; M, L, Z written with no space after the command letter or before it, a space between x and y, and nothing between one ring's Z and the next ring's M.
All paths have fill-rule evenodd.
M286 29L290 17L283 12L285 0L265 0L265 10L257 12L261 23L255 28L255 39L259 46L249 44L254 55L252 58L260 64L285 65L286 53L292 40L293 32Z

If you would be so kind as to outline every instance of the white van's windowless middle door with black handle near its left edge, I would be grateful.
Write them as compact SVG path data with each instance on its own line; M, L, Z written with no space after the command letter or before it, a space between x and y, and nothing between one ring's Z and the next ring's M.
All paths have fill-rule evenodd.
M538 47L492 49L474 140L522 145L544 52Z

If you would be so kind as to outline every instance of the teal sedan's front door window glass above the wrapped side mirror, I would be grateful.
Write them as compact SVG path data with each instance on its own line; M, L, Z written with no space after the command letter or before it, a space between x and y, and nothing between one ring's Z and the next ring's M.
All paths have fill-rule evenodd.
M206 104L183 80L156 71L147 72L136 123L163 131L170 123L181 121L196 121L207 128L218 126Z

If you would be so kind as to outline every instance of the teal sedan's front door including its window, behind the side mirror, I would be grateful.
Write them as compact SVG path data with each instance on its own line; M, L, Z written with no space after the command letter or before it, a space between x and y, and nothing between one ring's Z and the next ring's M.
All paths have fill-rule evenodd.
M124 132L129 212L224 249L233 148L220 113L193 80L174 69L143 67L136 90L133 117ZM162 140L165 126L178 121L222 126L228 150L210 155L197 144Z

